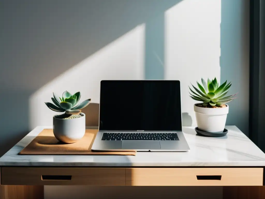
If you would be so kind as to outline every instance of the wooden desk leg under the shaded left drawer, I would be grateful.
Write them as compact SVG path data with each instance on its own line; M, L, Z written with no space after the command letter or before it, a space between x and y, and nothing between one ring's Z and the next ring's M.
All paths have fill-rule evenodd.
M44 186L0 185L0 199L43 199Z

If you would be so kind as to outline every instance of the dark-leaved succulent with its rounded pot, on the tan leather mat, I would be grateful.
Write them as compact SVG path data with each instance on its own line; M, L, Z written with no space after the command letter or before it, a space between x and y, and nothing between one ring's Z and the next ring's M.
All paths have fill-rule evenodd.
M74 143L80 140L86 131L86 115L81 113L81 109L89 105L91 99L86 99L77 105L81 93L69 93L67 90L62 98L53 93L52 102L45 102L49 109L64 114L53 116L53 133L57 140L65 143Z

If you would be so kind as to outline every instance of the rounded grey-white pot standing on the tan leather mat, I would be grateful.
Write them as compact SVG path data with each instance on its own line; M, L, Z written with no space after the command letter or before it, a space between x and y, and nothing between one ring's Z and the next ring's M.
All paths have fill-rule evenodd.
M57 140L74 143L80 140L86 132L86 115L75 119L59 119L53 116L53 134Z

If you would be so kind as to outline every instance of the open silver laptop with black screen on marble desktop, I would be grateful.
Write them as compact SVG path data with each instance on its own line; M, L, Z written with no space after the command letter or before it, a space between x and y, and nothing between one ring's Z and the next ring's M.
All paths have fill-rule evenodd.
M182 133L180 81L102 80L92 150L189 151Z

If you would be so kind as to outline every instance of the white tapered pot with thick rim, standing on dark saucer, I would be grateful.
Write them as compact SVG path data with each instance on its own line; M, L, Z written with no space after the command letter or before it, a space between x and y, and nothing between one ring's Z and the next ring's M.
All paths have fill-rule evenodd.
M210 133L224 131L229 106L222 108L204 108L194 105L198 129Z

